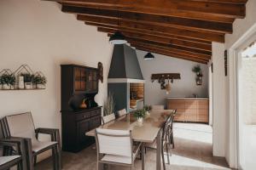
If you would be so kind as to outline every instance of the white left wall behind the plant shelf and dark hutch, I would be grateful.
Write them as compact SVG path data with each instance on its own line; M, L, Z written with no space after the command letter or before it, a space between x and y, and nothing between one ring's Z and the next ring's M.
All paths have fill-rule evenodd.
M0 117L32 111L36 127L61 128L61 64L101 61L105 79L96 101L102 105L113 51L106 34L62 13L58 3L39 0L1 0L0 23L0 70L27 64L48 79L45 90L0 91Z

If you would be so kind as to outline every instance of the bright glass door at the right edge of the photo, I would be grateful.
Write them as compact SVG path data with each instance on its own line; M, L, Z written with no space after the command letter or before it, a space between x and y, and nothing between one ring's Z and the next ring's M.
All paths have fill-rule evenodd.
M237 59L238 162L243 170L256 169L256 40L248 42Z

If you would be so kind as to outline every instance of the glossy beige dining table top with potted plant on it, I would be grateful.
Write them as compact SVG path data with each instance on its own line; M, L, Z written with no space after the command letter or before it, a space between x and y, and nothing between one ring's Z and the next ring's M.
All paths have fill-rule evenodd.
M98 128L131 130L131 136L134 141L152 143L157 137L161 127L166 122L167 116L171 115L173 112L173 110L151 111L149 116L143 119L143 122L137 122L137 118L134 117L133 114L126 114ZM96 129L85 133L87 136L95 136L95 134Z

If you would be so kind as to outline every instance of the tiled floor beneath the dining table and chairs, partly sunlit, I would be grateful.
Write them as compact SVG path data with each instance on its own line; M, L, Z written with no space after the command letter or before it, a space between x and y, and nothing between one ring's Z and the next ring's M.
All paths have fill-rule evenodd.
M222 170L227 168L224 158L212 157L212 127L203 124L175 123L175 149L172 150L172 170ZM64 152L62 154L65 170L96 169L96 150L89 147L78 154ZM51 160L39 163L38 170L51 169ZM111 170L127 169L125 167L110 167ZM129 169L129 168L128 168ZM136 169L141 169L141 161L136 161ZM147 150L146 170L155 169L155 150Z

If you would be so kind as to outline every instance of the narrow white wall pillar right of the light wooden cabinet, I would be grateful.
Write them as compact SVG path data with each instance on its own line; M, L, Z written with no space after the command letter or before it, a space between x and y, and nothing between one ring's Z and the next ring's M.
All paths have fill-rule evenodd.
M226 136L226 99L224 76L224 43L212 42L212 63L213 63L213 156L225 156Z

